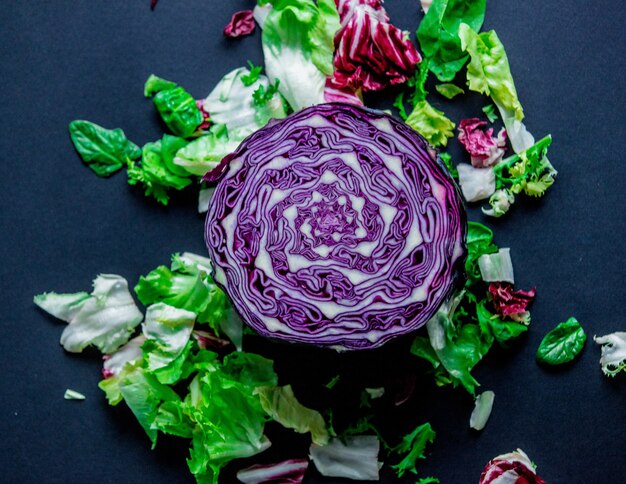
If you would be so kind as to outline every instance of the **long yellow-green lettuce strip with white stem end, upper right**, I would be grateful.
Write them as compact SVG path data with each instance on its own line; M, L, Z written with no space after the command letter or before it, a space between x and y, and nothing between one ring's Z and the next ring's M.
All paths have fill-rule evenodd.
M470 55L467 82L472 91L491 97L500 111L513 150L520 153L535 143L522 123L524 111L517 91L504 46L494 30L477 33L467 24L459 27L461 47Z

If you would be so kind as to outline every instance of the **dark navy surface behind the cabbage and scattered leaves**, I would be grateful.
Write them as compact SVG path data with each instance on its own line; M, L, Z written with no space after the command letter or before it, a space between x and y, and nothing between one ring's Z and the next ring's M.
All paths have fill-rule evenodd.
M172 252L204 253L196 193L167 208L144 198L120 173L96 177L74 153L67 124L76 118L121 127L138 144L163 126L143 84L155 73L206 96L227 72L262 61L260 36L229 41L222 29L252 1L3 1L0 8L0 469L3 482L191 482L187 443L162 438L155 451L130 412L106 404L97 388L95 352L65 353L64 323L32 304L44 291L89 290L98 273L131 284ZM417 0L388 0L392 20L414 32ZM626 375L600 371L594 334L625 330L624 106L626 9L612 0L489 1L485 28L504 43L527 126L554 137L559 177L540 201L516 204L492 222L496 242L511 247L517 286L537 288L529 334L495 350L475 370L495 391L493 414L477 434L463 390L437 389L428 376L401 407L377 403L376 421L396 443L429 420L437 430L420 476L477 482L492 457L524 449L549 483L624 482ZM433 90L434 92L434 90ZM369 104L388 107L390 97ZM455 121L481 115L486 100L433 103ZM457 161L466 160L453 144ZM481 220L476 210L471 218ZM566 368L537 366L545 332L570 315L589 336ZM317 408L358 403L362 385L388 384L426 369L408 355L409 340L382 350L337 356L251 337L247 349L276 358L282 380ZM321 389L338 371L336 390ZM84 402L64 401L72 388ZM356 400L355 400L356 398ZM343 409L343 410L342 410ZM251 461L301 457L306 436L268 425L274 447ZM250 461L246 461L249 464ZM224 482L232 482L231 466ZM313 480L320 478L313 466ZM385 469L383 481L392 481ZM330 479L324 482L337 482ZM408 482L408 481L407 481Z

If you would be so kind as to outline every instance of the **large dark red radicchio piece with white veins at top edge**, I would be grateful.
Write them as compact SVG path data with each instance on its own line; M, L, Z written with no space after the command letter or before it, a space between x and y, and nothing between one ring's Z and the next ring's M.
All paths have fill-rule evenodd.
M402 84L421 57L408 33L389 23L382 0L335 0L341 28L335 36L332 85L378 91Z

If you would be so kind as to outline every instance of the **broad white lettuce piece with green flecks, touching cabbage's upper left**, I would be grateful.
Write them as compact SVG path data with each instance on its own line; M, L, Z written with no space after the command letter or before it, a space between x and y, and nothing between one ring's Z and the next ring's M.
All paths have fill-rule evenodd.
M254 102L254 93L259 88L268 89L269 86L266 76L260 73L253 76L250 70L240 67L218 82L204 100L203 106L210 113L213 123L226 126L231 140L241 141L265 126L270 119L287 115L282 98L278 95L271 96L263 105Z

